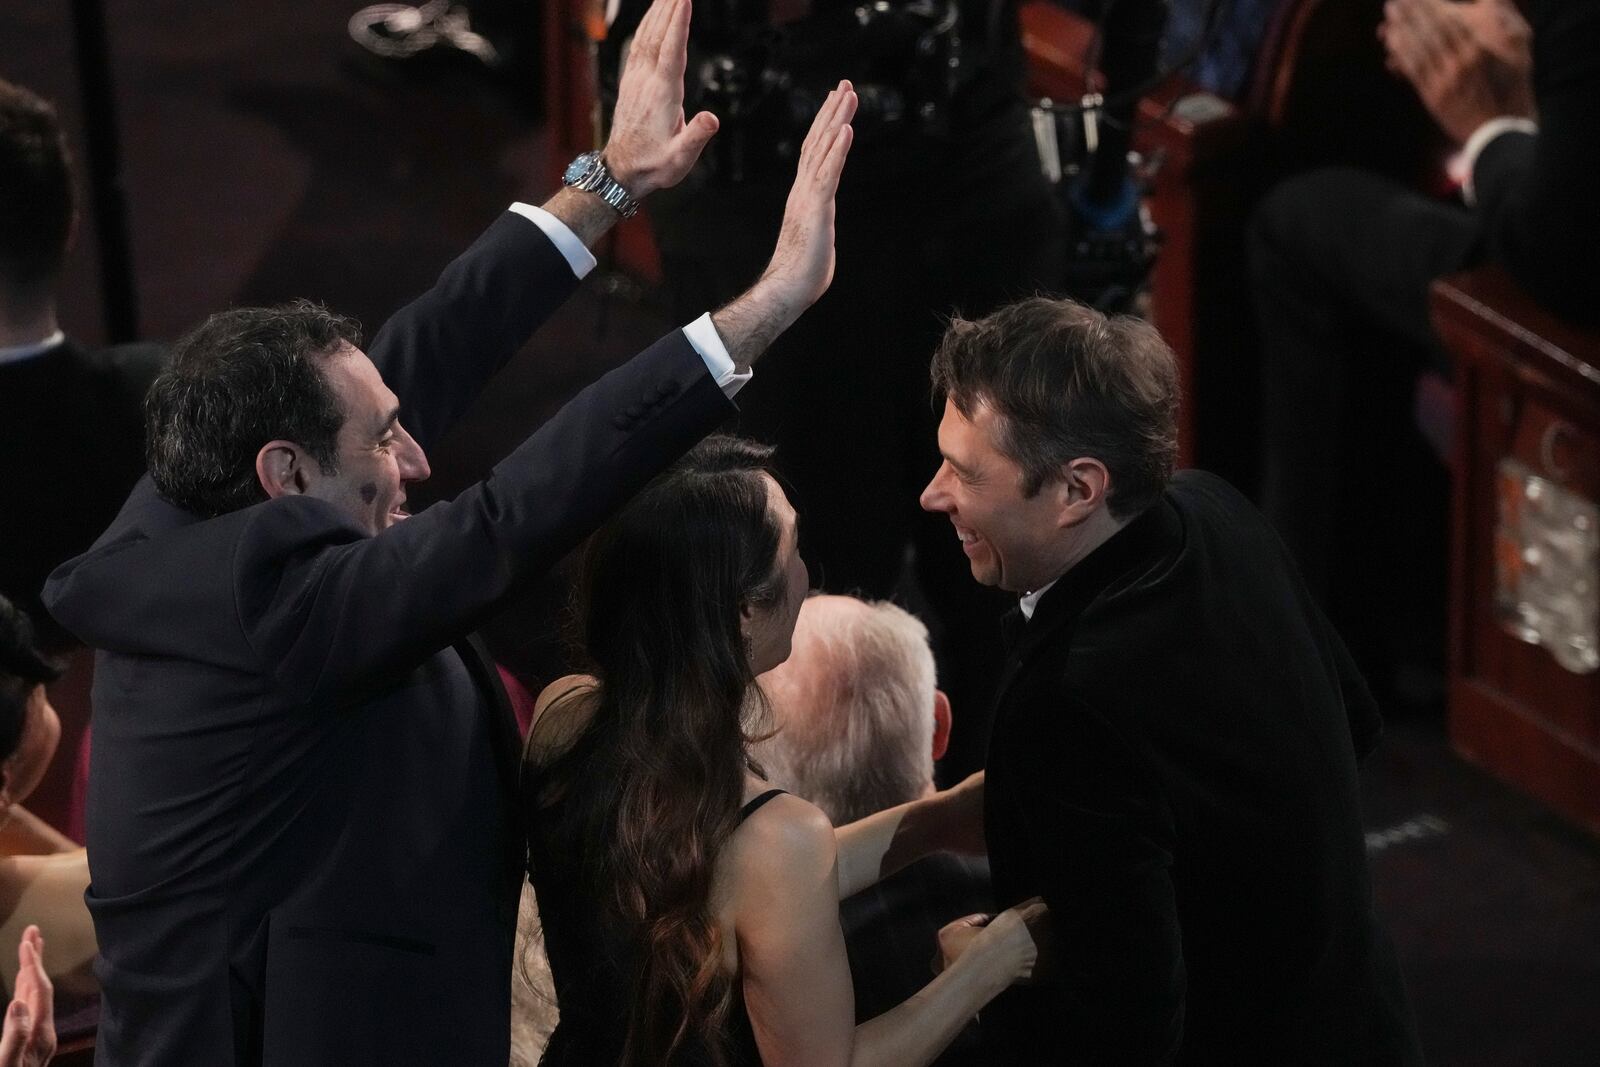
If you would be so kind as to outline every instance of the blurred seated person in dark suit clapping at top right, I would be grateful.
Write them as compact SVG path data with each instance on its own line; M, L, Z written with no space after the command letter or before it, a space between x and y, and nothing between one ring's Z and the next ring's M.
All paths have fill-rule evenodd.
M1531 29L1510 0L1384 6L1378 35L1390 70L1461 146L1461 203L1331 168L1280 184L1256 214L1261 502L1318 593L1334 568L1360 577L1414 539L1395 501L1414 499L1418 480L1397 474L1394 456L1426 454L1408 429L1418 373L1448 374L1429 323L1434 278L1493 259L1549 310L1574 322L1600 315L1590 117L1600 107L1600 5L1530 0L1526 10ZM1435 448L1446 435L1430 435ZM1442 571L1438 523L1429 552ZM1355 560L1336 558L1350 539L1368 544L1347 550ZM1390 563L1390 577L1411 587L1414 563Z

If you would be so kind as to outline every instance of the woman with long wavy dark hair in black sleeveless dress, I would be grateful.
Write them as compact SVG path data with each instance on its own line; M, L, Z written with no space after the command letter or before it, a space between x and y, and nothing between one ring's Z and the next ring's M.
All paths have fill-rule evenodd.
M1032 971L1024 915L1003 912L918 997L856 1025L838 899L971 825L981 792L835 833L762 781L754 681L789 656L808 584L768 458L710 438L587 547L592 675L544 691L523 766L560 1008L544 1064L926 1064Z

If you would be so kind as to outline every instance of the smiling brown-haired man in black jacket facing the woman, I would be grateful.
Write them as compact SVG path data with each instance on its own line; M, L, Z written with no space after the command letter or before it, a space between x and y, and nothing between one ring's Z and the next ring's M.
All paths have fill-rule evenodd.
M995 1064L1413 1064L1357 758L1379 718L1266 520L1173 475L1178 373L1133 318L952 323L923 507L1021 593L989 749L1002 907L1056 968L982 1014Z

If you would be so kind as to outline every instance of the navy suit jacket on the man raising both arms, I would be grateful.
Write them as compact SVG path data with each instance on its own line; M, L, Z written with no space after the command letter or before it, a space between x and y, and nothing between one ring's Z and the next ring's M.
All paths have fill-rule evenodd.
M371 346L410 432L435 443L573 286L499 219ZM99 1062L507 1061L517 736L466 638L730 410L675 331L378 536L309 498L197 520L141 482L46 587L102 649Z

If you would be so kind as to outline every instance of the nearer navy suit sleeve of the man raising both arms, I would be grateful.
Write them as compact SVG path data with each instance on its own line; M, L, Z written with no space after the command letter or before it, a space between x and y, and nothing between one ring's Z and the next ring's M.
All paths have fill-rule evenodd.
M232 561L245 638L290 693L365 693L477 629L518 579L552 566L731 411L674 331L578 394L486 480L376 537L322 501L258 506Z

